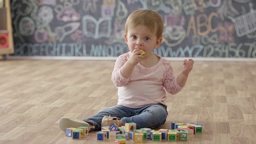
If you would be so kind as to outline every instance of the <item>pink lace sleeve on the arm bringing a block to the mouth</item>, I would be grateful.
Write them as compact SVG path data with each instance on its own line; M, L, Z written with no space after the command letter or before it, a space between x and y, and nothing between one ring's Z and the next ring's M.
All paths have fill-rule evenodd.
M118 87L124 86L127 84L130 78L124 78L121 73L121 67L126 63L128 57L125 54L119 56L116 60L114 70L112 72L112 81Z

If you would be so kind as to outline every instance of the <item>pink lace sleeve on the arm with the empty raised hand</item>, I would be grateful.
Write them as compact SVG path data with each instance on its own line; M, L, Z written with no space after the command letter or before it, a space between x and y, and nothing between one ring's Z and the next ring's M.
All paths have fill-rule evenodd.
M162 64L166 69L164 88L170 94L177 94L182 90L182 88L177 83L177 78L173 74L172 66L167 60L163 60Z

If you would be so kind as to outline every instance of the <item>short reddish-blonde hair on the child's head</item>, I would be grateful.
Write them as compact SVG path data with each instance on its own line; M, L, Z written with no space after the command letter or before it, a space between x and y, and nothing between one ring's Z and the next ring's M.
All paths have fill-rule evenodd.
M157 38L162 38L164 31L164 22L161 16L153 10L136 10L128 16L125 24L125 34L127 35L128 28L136 26L146 26L152 33L156 30Z

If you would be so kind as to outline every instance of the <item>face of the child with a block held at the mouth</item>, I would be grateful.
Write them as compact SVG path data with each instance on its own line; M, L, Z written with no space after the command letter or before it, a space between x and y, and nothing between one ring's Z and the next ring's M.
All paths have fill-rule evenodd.
M146 26L136 26L128 28L127 36L124 34L126 43L128 44L130 52L139 48L146 52L144 56L150 55L153 48L159 46L162 38L157 39L156 30L152 33Z

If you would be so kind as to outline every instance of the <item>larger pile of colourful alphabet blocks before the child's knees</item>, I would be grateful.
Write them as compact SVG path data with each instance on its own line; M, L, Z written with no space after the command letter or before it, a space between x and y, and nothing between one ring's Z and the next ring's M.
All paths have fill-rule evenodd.
M151 130L150 128L136 129L135 123L126 123L125 126L118 127L116 124L102 127L101 132L97 132L97 140L114 140L114 144L125 144L126 140L134 143L143 143L146 140L169 142L177 140L188 140L194 134L203 134L203 125L198 123L172 122L171 130L160 129Z

